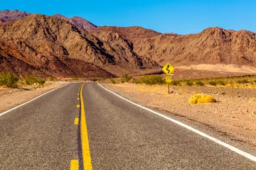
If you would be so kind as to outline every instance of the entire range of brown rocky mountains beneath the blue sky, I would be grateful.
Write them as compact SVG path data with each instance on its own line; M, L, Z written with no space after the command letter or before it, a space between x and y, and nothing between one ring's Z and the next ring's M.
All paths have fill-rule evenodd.
M101 68L106 77L161 69L160 65L166 62L182 68L192 65L206 68L207 64L256 67L256 34L218 27L189 35L162 34L139 26L97 27L80 17L6 10L0 11L0 42L0 57L5 57L0 60L0 72L6 68L13 70L14 63L19 62L29 72L42 75L63 77L66 71L61 70L67 68L70 69L67 75L78 75L78 68L67 61L90 64L99 72ZM10 56L15 62L10 62ZM21 68L15 72L24 74L18 70ZM88 77L85 73L79 75Z

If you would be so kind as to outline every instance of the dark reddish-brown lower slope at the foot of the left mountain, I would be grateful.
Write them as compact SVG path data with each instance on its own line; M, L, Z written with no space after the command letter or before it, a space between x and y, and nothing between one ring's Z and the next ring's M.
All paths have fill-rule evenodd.
M26 44L21 42L21 45ZM68 57L44 56L29 47L25 49L20 50L0 42L0 72L12 72L19 77L31 74L38 77L114 77L94 64Z

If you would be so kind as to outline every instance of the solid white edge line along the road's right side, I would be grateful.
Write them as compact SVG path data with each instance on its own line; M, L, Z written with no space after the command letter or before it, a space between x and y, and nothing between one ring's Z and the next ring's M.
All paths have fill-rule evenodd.
M98 84L98 85L102 86L101 84ZM209 136L209 135L206 135L205 133L203 133L203 132L201 132L201 131L199 131L199 130L196 130L196 129L194 129L194 128L192 128L192 127L190 127L190 126L188 126L188 125L186 125L186 124L184 124L184 123L179 122L178 120L174 120L174 119L172 119L172 118L167 117L166 115L162 115L161 113L157 113L156 111L152 111L152 110L149 109L149 108L145 108L144 106L140 106L140 105L138 105L137 103L134 103L134 102L132 102L132 101L129 101L127 98L124 98L124 97L122 97L122 96L119 96L118 94L115 94L113 91L110 91L110 90L106 89L104 86L102 86L102 88L105 89L106 91L109 91L110 93L114 94L115 96L118 96L119 98L122 98L122 99L124 99L125 101L128 101L129 103L134 104L135 106L138 106L139 108L144 108L146 111L150 111L151 113L154 113L154 114L156 114L156 115L159 115L159 116L161 116L162 118L166 118L167 120L170 120L170 121L173 122L173 123L176 123L176 124L178 124L178 125L181 125L183 128L187 128L188 130L191 130L191 131L193 131L193 132L196 132L198 135L201 135L201 136L203 136L203 137L206 137L206 138L208 138L209 140L212 140L213 142L216 142L216 143L218 143L219 145L222 145L223 147L226 147L226 148L232 150L233 152L235 152L235 153L237 153L237 154L240 154L240 155L242 155L243 157L246 157L247 159L250 159L250 160L253 161L253 162L256 162L256 157L253 156L252 154L248 154L247 152L244 152L244 151L242 151L242 150L240 150L240 149L238 149L238 148L236 148L236 147L233 147L232 145L229 145L229 144L227 144L227 143L225 143L225 142L222 142L222 141L216 139L215 137L211 137L211 136Z

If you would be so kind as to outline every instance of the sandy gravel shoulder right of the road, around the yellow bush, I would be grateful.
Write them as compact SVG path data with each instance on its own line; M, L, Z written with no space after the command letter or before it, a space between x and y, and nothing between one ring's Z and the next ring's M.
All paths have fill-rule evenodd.
M255 89L228 89L191 86L147 86L142 84L102 84L107 89L156 111L219 132L230 140L256 148ZM193 94L209 94L216 103L189 104Z

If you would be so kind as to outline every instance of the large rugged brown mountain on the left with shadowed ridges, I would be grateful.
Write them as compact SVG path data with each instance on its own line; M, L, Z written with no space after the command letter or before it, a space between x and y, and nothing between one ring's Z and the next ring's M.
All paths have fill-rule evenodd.
M122 38L110 37L120 43L100 40L67 21L43 15L4 22L0 24L0 68L18 74L32 70L55 77L112 77L100 67L117 66L133 71L159 67L156 62L136 55ZM18 65L29 69L16 68ZM88 74L90 70L95 71L93 76Z

